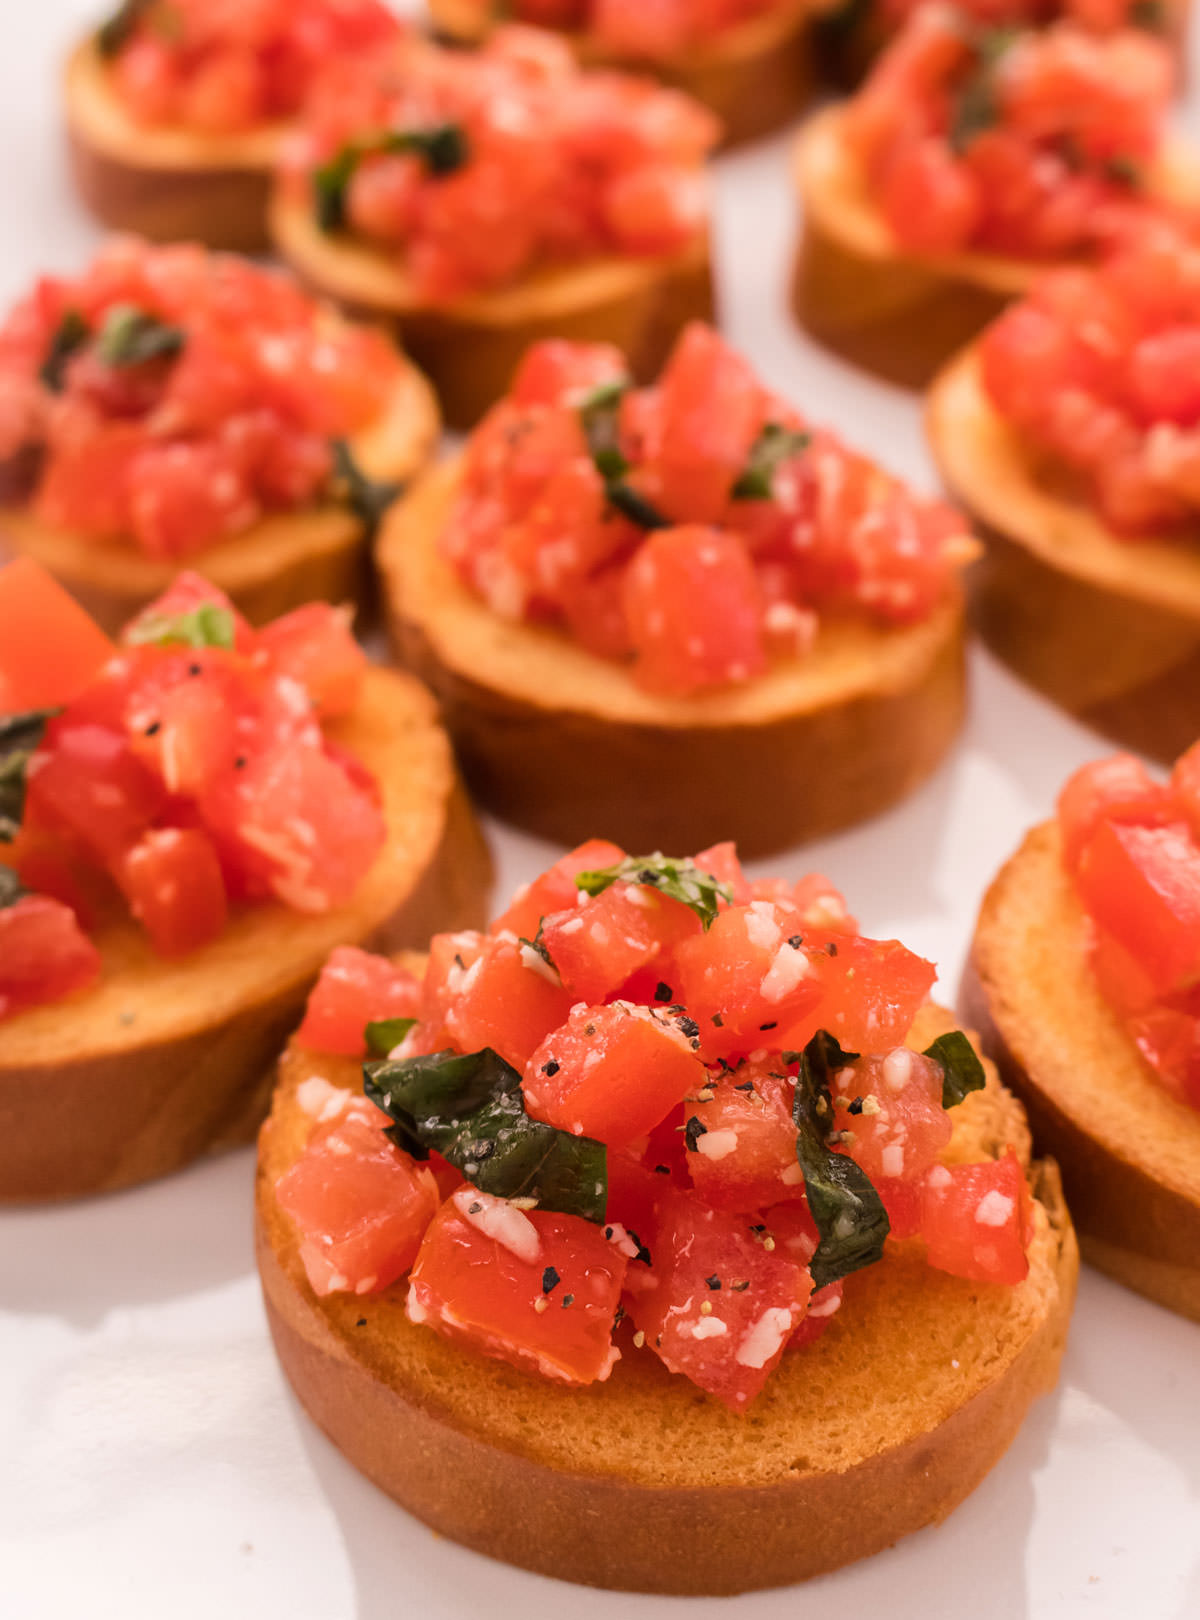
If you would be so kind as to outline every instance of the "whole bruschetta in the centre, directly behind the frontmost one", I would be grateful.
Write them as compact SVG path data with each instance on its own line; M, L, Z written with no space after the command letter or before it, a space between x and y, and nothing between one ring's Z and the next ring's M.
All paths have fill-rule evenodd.
M497 815L758 855L941 760L973 546L696 324L654 389L604 345L530 350L377 561L398 656Z

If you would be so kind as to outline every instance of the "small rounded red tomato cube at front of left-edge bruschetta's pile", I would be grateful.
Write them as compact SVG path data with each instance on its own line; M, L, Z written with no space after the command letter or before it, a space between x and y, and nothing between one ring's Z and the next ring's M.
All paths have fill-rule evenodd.
M199 828L144 833L117 863L117 881L159 956L186 956L225 928L220 860Z

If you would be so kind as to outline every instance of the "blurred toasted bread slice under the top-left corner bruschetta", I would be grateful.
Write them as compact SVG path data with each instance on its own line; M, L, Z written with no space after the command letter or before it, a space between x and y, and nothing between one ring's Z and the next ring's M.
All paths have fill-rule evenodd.
M63 99L74 185L105 225L238 253L270 245L270 175L288 125L245 134L147 130L113 92L94 39L68 57Z

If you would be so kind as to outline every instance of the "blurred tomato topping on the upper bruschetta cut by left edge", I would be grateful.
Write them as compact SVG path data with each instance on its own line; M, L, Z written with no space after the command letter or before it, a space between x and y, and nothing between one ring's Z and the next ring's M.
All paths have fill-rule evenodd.
M400 364L277 271L121 237L0 326L0 478L44 523L191 556L340 497L334 442Z

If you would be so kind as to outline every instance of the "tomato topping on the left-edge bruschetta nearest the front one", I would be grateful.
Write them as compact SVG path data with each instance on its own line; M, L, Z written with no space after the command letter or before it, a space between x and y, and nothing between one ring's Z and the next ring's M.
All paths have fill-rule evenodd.
M353 710L364 669L327 604L254 632L181 573L113 646L36 564L0 570L0 1017L92 983L87 932L121 910L180 957L236 904L350 901L384 816L322 719ZM371 991L377 1016L408 1006L387 972Z

